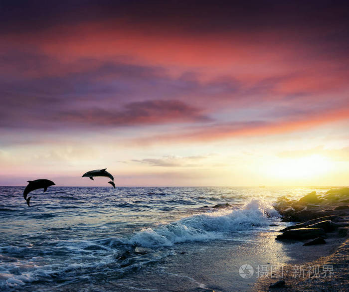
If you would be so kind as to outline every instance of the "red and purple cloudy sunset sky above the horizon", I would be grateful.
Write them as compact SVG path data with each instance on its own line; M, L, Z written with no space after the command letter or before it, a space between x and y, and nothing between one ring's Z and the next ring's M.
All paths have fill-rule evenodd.
M0 24L0 185L348 185L348 1L1 0Z

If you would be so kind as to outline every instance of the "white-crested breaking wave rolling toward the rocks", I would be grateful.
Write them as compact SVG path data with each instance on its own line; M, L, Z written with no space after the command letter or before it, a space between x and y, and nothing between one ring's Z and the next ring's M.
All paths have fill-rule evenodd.
M144 228L135 233L129 243L151 248L170 247L186 241L222 239L232 232L268 226L268 218L274 216L278 214L271 205L254 199L239 210L210 211L156 228Z

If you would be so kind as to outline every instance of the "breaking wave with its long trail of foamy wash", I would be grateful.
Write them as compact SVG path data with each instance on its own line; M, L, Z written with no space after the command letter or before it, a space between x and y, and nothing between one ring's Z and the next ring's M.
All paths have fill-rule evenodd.
M236 231L268 226L269 217L277 215L271 206L252 200L239 210L210 209L206 213L142 229L130 237L107 237L83 241L53 240L45 259L22 258L23 251L31 247L0 247L1 253L11 257L0 258L0 290L18 288L34 281L52 281L57 277L60 281L65 281L85 275L86 269L93 269L94 273L104 273L112 266L120 273L124 273L171 255L174 251L167 247L177 243L231 238ZM135 246L152 248L152 250L150 254L137 255L133 252ZM119 260L125 250L131 251L130 256ZM18 258L14 258L14 255ZM57 256L66 260L53 263L46 259L46 257Z

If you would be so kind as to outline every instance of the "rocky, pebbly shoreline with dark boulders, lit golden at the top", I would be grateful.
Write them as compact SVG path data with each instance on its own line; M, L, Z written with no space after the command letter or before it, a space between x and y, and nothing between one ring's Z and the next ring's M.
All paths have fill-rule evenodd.
M303 249L298 244L293 251L300 264L285 265L282 279L259 278L254 290L349 291L348 204L348 187L324 195L311 192L299 200L279 198L274 208L282 220L298 223L280 230L276 240L286 245L301 241ZM309 253L319 257L307 261Z

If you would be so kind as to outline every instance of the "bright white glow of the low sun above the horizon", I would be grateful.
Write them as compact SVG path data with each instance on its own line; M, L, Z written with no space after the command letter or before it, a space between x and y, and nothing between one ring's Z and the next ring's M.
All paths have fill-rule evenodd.
M267 166L267 171L275 178L294 179L312 178L329 173L333 169L333 161L322 155L298 158L282 158Z

